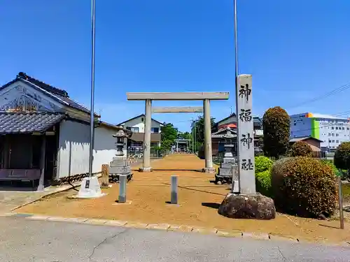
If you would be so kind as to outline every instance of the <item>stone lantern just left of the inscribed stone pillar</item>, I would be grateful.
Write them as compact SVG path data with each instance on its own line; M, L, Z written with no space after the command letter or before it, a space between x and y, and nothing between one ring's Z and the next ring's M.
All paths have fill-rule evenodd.
M225 155L223 157L223 161L221 162L220 168L218 168L218 173L215 175L215 183L216 184L231 184L232 178L235 182L235 186L237 187L236 191L238 192L238 175L237 175L237 158L235 158L232 154L232 150L235 145L233 145L232 140L236 137L235 133L230 129L230 127L226 127L226 133L223 134L223 138L225 138Z

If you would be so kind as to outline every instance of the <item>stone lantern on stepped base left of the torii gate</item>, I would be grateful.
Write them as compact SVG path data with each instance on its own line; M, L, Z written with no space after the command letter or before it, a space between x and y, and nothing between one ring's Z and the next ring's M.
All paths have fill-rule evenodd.
M119 181L119 175L126 175L127 181L130 181L132 179L130 162L124 154L123 147L125 138L130 138L132 131L123 129L122 126L118 126L118 128L120 130L113 135L116 138L116 157L113 157L113 161L109 164L109 175L116 182Z

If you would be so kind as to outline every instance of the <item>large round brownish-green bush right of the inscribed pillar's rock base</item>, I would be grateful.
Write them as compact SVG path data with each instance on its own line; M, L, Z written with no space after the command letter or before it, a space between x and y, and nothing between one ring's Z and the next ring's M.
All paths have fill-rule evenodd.
M334 170L318 159L285 158L272 166L276 208L300 217L329 217L337 202Z

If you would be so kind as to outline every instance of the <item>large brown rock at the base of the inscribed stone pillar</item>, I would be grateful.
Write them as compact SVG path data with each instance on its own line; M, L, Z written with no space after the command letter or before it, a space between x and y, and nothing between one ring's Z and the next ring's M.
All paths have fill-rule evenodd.
M274 219L276 208L272 198L261 194L228 194L218 208L218 213L235 219Z

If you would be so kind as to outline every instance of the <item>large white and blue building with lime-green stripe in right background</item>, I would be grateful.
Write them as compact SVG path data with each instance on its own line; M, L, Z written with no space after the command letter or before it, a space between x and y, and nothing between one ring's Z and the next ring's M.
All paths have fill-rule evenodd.
M305 112L290 115L290 138L311 136L321 140L321 150L335 150L350 140L349 119Z

